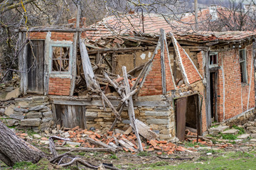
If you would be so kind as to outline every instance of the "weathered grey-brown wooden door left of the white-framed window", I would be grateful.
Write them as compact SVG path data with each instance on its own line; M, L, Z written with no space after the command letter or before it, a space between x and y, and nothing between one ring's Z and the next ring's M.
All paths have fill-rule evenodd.
M44 40L31 40L28 44L27 70L28 70L28 93L43 94L44 92Z

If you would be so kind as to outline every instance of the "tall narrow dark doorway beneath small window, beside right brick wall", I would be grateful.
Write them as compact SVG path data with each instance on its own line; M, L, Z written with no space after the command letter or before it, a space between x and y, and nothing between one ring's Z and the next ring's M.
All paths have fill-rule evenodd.
M217 72L210 72L210 118L218 121L217 115Z

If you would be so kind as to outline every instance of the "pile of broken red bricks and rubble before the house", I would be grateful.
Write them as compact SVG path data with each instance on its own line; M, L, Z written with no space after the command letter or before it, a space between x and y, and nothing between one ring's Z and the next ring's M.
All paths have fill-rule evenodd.
M137 137L132 132L132 127L129 127L125 132L122 130L109 131L105 134L100 134L100 130L83 130L78 126L75 128L64 128L63 130L52 130L52 135L58 137L69 138L70 141L58 140L55 141L55 149L62 150L60 147L69 146L70 149L91 148L92 151L97 147L104 147L105 151L117 152L124 150L124 152L132 152L135 154L138 152ZM28 137L26 133L17 132L16 135L25 139ZM49 141L47 137L41 137L41 135L34 135L38 138L37 142L39 145L48 145ZM142 142L143 150L146 152L154 152L156 154L174 154L177 152L185 152L185 147L178 146L172 142L164 140L151 139L146 140L144 138ZM65 147L67 149L67 147ZM63 149L63 150L65 150Z

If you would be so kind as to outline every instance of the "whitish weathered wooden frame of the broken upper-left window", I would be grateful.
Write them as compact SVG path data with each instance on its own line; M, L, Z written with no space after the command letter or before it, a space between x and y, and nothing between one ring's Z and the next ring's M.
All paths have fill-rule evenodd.
M53 67L53 47L69 47L69 61L68 61L68 72L56 72L52 70ZM71 74L71 66L72 66L72 54L73 54L73 45L72 44L50 44L50 61L49 61L49 73L50 74Z

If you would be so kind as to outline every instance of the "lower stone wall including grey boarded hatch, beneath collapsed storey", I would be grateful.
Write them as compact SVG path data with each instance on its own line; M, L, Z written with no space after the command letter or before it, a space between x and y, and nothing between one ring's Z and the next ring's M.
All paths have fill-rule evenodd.
M70 102L70 101L69 101ZM60 104L61 103L61 104ZM66 103L66 104L65 104ZM92 100L71 101L73 105L68 105L66 101L53 100L53 118L63 120L61 126L74 128L79 125L81 128L90 129L92 127L99 130L107 131L114 122L114 113L110 108L104 108L102 101ZM118 101L111 101L114 107L118 105ZM64 114L60 114L64 113ZM174 128L174 109L170 101L134 101L134 113L138 120L141 120L149 128L154 130L161 140L169 140L175 137ZM121 113L122 121L117 120L115 128L127 130L130 120L127 108ZM58 124L57 123L57 124Z

